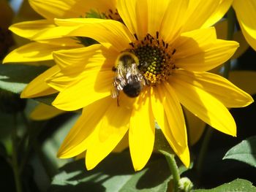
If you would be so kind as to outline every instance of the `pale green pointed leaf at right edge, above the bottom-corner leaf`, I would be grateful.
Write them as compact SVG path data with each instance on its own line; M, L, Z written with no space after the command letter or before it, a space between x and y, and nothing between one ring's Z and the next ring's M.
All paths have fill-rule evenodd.
M232 147L223 159L236 159L256 167L256 137L250 137Z

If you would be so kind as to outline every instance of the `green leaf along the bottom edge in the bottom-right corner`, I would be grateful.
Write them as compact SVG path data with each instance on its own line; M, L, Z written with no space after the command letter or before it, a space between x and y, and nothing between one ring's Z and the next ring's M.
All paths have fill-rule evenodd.
M225 183L217 188L212 189L198 189L192 192L254 192L256 191L255 186L252 185L248 180L236 179L230 183Z

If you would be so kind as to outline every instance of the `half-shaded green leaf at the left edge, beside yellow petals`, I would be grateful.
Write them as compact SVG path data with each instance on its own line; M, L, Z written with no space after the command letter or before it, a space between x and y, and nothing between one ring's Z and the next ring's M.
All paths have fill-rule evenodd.
M31 80L46 69L46 66L0 64L0 88L20 93Z

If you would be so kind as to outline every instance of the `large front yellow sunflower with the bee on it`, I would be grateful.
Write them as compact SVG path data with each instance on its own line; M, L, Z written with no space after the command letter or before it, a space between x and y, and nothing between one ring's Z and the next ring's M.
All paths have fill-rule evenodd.
M58 27L35 35L34 40L91 37L100 43L53 53L61 69L47 79L60 92L53 106L83 108L59 157L86 150L86 167L93 169L128 132L132 164L140 170L153 150L156 120L173 151L189 166L181 104L217 130L236 136L226 107L245 107L253 100L225 78L206 72L227 61L238 47L217 39L214 28L201 28L216 9L213 5L219 2L121 0L117 10L125 26L115 20L56 19Z

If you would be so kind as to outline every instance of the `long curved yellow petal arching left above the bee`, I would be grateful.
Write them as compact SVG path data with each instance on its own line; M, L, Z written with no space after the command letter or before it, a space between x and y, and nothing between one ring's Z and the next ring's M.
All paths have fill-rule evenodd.
M59 27L50 28L34 36L34 40L58 37L91 37L100 43L110 43L117 51L125 50L132 41L132 34L116 20L94 18L56 19Z

